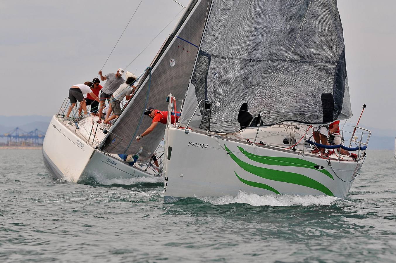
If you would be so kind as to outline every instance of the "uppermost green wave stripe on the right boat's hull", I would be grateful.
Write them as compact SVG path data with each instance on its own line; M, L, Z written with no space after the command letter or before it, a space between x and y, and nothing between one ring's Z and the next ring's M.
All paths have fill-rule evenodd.
M299 159L299 158L291 158L291 157L272 157L272 156L255 155L253 153L247 152L242 147L238 146L238 149L240 151L242 151L242 153L244 155L246 155L247 158L249 158L252 161L255 161L257 163L263 163L265 165L282 165L282 166L294 166L294 167L309 168L309 169L319 171L323 174L326 174L327 176L329 176L331 179L334 180L333 176L326 169L318 170L315 168L315 166L318 166L318 165L316 163L312 163L310 161L306 161L306 160Z

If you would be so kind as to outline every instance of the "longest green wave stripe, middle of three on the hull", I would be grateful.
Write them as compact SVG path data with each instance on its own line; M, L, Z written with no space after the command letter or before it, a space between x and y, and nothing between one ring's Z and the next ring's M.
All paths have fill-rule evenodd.
M249 163L245 163L244 161L238 159L238 157L236 157L235 154L227 148L227 146L224 145L224 147L230 157L235 161L235 163L246 172L250 172L251 174L255 174L261 178L265 178L268 180L306 186L312 189L319 190L326 195L334 196L334 194L326 186L313 180L312 178L309 178L308 176L296 174L294 172L285 172L280 170L257 167Z

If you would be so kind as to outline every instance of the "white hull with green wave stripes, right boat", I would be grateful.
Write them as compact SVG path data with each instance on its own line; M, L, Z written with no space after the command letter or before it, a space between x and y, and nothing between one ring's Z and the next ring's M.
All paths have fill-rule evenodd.
M345 198L362 165L332 160L329 167L326 159L308 153L302 156L171 127L166 129L164 156L164 202L194 196L236 196L240 190L258 195Z

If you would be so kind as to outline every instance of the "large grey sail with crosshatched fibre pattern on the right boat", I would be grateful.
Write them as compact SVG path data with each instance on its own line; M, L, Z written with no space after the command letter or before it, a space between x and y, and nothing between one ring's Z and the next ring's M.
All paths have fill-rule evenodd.
M181 123L202 99L213 102L216 132L243 129L260 112L264 125L350 117L337 1L213 0ZM197 113L208 115L203 104ZM206 129L207 120L190 126Z

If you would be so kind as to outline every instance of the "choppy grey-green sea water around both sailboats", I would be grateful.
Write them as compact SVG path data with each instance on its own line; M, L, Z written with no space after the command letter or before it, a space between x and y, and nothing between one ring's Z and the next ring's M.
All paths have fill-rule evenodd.
M41 150L0 149L0 262L396 262L396 162L369 151L345 200L195 197L161 180L52 180ZM127 184L127 185L124 185Z

